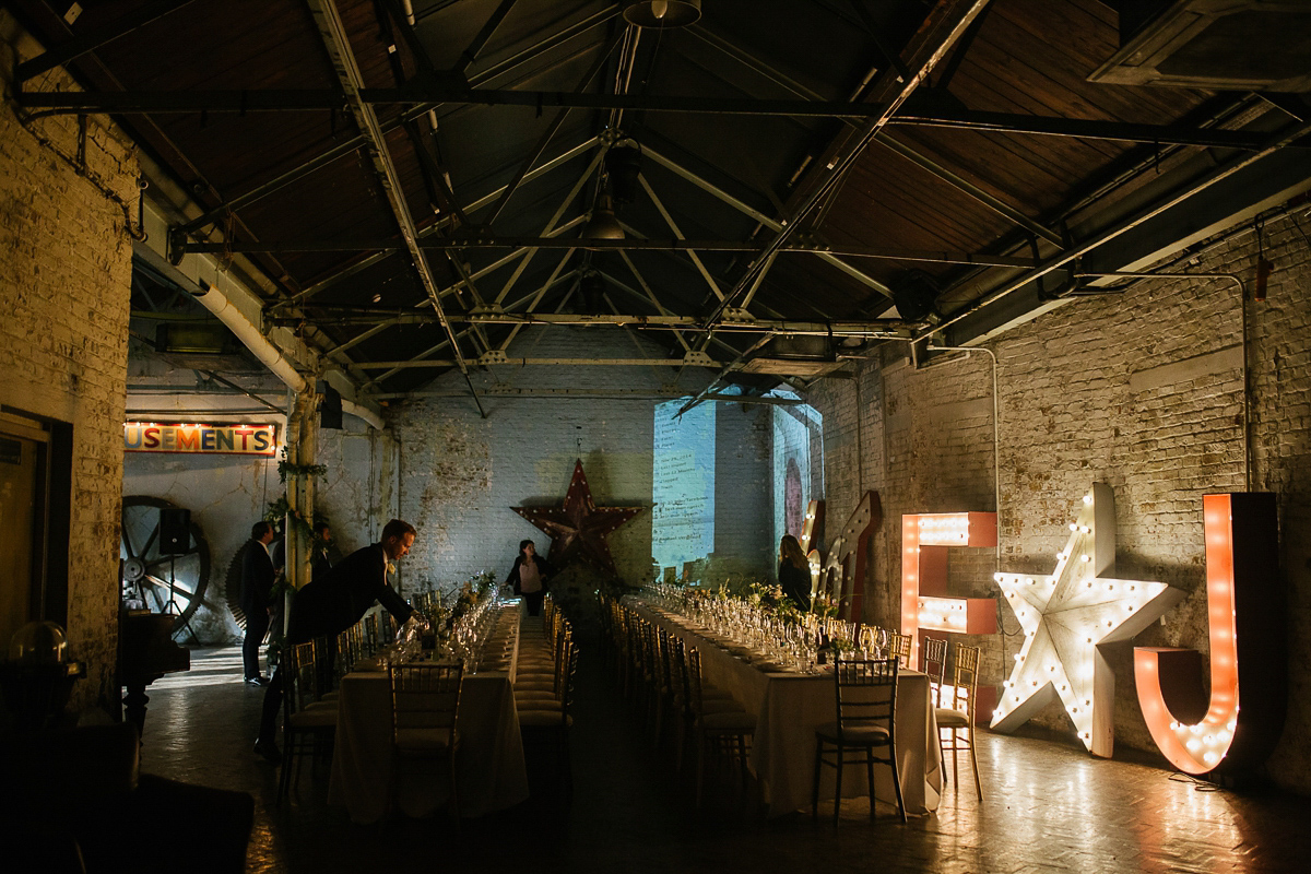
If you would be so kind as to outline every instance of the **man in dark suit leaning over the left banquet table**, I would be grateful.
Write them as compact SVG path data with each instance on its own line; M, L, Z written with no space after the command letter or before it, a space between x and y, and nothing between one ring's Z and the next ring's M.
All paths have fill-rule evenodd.
M392 562L409 554L416 533L414 525L392 519L383 527L380 542L357 549L324 577L302 586L291 600L286 645L305 643L316 637L334 638L358 622L374 601L382 601L397 622L406 621L414 611L387 584L387 571ZM282 664L264 694L260 736L254 742L254 751L269 761L282 755L275 742L278 709L287 683Z

